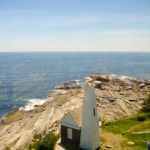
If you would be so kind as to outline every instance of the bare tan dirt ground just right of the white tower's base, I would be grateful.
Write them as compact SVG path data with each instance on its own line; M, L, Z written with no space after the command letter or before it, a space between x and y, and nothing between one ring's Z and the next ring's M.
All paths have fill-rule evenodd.
M127 148L122 148L121 143L126 139L120 134L102 131L101 137L104 139L104 142L102 142L101 145L101 150L128 150Z

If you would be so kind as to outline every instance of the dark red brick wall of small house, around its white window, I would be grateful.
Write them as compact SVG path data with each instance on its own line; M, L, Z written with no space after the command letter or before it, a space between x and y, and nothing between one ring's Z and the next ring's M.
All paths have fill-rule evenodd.
M68 127L61 125L61 143L64 145L66 145L67 143L70 143L74 147L79 147L81 130L70 128L72 129L72 139L68 139L67 129Z

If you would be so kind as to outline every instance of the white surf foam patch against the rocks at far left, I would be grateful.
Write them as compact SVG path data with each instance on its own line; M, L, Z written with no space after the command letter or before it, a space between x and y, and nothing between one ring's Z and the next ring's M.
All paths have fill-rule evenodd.
M28 103L24 107L20 107L19 111L24 110L24 111L29 111L32 110L35 105L43 105L46 102L45 99L29 99Z

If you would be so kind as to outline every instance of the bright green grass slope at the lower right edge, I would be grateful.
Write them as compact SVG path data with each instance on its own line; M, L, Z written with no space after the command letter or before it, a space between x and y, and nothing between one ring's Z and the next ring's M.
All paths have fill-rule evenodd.
M141 117L144 119L139 119ZM104 123L102 130L124 136L127 141L122 143L123 147L133 150L146 149L146 142L150 140L150 113L139 113L125 119ZM144 133L145 131L149 131L149 133ZM135 134L133 132L141 133ZM134 145L128 145L128 141L134 142Z

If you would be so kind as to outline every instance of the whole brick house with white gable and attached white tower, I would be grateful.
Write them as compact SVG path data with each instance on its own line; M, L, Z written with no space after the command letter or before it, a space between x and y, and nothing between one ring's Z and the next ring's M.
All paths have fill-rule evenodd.
M94 87L85 86L84 90L83 107L65 114L61 120L61 142L95 150L100 147L96 96Z

